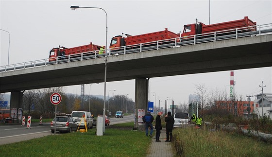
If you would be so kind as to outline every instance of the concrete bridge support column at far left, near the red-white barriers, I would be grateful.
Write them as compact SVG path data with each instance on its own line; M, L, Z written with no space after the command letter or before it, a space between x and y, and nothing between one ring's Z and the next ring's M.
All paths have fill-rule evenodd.
M12 108L22 108L23 103L23 92L21 91L12 91L10 95L10 115L11 115L11 109ZM11 115L13 117L13 115Z

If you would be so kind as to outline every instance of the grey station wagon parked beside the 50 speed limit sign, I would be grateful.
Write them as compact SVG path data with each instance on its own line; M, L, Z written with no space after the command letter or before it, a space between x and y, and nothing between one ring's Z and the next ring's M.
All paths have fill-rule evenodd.
M51 133L54 133L55 131L55 124L56 131L59 132L72 132L77 130L76 120L70 115L57 115L51 122Z

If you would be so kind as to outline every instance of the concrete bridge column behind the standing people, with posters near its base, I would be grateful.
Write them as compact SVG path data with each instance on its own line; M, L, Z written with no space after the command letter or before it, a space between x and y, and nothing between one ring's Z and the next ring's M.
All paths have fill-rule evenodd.
M135 124L134 130L145 130L145 125L138 121L138 109L148 109L148 83L149 78L137 78L135 81Z

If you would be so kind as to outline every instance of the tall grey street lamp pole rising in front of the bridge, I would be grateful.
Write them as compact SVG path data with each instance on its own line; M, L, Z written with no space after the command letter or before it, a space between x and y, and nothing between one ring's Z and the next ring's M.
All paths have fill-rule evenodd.
M71 6L72 10L78 8L89 8L89 9L101 9L106 14L106 45L105 45L105 79L104 79L104 105L103 105L103 133L105 132L105 117L106 117L106 82L107 82L107 40L108 40L108 15L107 12L99 7L82 7L82 6Z

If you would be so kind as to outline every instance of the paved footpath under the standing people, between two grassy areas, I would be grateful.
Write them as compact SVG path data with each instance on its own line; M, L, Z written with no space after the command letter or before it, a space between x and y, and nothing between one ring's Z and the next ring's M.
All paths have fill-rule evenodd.
M155 127L154 127L155 128ZM166 129L161 130L160 140L156 142L155 139L156 131L154 129L151 146L147 157L174 157L174 150L172 149L172 142L165 142L166 140Z

